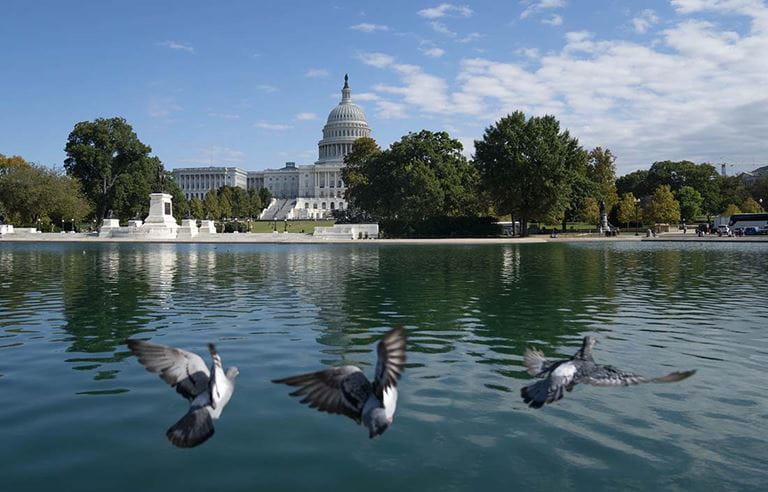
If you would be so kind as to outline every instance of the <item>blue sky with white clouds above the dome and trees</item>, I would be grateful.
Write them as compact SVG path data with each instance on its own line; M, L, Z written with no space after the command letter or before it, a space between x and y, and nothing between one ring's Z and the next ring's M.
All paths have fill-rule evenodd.
M3 0L0 153L120 116L166 168L311 164L345 73L373 137L554 115L618 174L768 164L768 0Z

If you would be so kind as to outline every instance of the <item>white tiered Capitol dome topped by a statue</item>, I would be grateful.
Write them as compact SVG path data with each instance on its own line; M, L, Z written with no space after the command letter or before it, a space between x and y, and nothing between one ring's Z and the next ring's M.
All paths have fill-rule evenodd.
M352 102L349 76L344 76L341 102L328 114L323 127L323 139L318 143L319 161L343 162L352 150L352 143L360 137L370 137L371 129L365 120L363 109Z

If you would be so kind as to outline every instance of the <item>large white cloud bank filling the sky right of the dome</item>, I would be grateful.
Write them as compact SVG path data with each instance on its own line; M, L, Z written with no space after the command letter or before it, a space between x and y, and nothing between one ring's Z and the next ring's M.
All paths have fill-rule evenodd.
M559 50L521 49L518 54L530 60L519 62L465 59L446 78L377 53L379 62L371 65L398 82L374 90L386 102L384 114L461 116L465 127L476 122L478 136L515 110L553 114L585 147L610 148L620 172L663 159L765 155L768 6L750 0L730 11L733 0L674 5L684 15L738 10L751 28L739 33L684 16L644 43L575 31L564 36Z

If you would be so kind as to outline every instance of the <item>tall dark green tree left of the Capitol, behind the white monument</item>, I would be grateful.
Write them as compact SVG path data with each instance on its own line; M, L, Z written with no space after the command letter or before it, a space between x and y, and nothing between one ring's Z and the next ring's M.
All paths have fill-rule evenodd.
M86 196L96 204L99 218L115 208L116 196L117 205L129 211L136 210L136 202L146 203L147 188L156 183L162 168L159 159L149 157L152 149L141 143L123 118L77 123L65 151L64 168L80 180Z

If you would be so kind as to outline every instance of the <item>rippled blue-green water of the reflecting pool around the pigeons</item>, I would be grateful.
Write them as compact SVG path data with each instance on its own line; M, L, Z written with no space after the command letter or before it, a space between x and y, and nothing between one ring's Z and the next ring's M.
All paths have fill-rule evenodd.
M3 490L742 490L768 480L768 247L761 244L0 244ZM404 325L378 439L273 378L369 374ZM526 407L522 353L675 385L579 386ZM124 345L237 365L216 435L165 439L185 402ZM206 356L207 358L207 356Z

